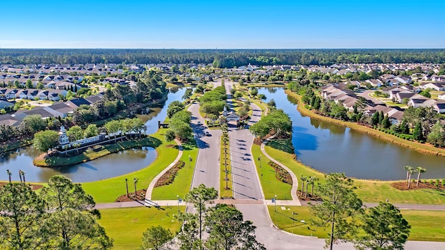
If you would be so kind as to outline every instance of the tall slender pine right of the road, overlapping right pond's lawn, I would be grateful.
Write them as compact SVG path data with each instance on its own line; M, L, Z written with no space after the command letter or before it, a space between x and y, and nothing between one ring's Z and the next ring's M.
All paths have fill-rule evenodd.
M347 235L355 233L355 215L362 212L362 201L357 198L353 189L353 180L344 173L325 175L325 183L319 185L318 194L323 202L311 204L309 210L314 214L311 223L314 226L330 225L326 247L332 250L334 242L344 240Z

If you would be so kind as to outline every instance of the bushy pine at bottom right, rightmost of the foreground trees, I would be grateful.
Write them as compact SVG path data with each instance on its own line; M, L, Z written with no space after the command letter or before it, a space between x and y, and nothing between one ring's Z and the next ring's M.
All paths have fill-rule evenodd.
M357 249L403 249L411 228L400 210L382 202L364 213L362 225L364 233L353 240Z

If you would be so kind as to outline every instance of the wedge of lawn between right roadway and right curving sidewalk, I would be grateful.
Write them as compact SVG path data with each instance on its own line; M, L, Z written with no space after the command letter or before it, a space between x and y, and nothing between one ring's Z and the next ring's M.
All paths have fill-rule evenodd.
M281 182L275 177L275 169L269 166L268 162L270 160L261 155L261 166L259 164L258 158L261 155L261 148L258 145L252 145L252 157L257 166L257 172L259 175L259 182L261 187L263 187L264 198L270 199L277 196L278 200L289 200L291 199L291 189L292 185ZM288 166L288 165L286 165Z

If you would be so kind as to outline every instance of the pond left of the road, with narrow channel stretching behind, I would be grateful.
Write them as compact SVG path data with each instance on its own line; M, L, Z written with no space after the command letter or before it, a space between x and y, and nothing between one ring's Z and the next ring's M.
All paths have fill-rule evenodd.
M168 100L150 108L148 115L140 116L147 125L147 134L153 134L158 130L158 120L163 121L167 116L167 106L170 102L181 100L185 88L168 94ZM156 159L154 148L143 147L124 150L119 153L106 155L91 162L64 166L59 168L42 168L33 165L33 159L40 152L32 146L20 148L15 152L0 157L0 180L8 180L6 169L13 173L12 179L19 180L19 169L25 172L28 182L47 182L53 175L65 175L74 182L90 182L103 180L115 176L131 173L149 166Z

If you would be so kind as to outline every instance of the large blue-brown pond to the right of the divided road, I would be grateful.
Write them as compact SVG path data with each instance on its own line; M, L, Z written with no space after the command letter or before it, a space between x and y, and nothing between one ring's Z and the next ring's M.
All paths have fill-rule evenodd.
M302 116L283 88L260 88L259 93L266 95L266 102L274 99L277 109L291 117L295 153L307 166L355 178L403 180L403 166L410 165L427 169L421 178L445 178L445 157L419 153L348 127Z

